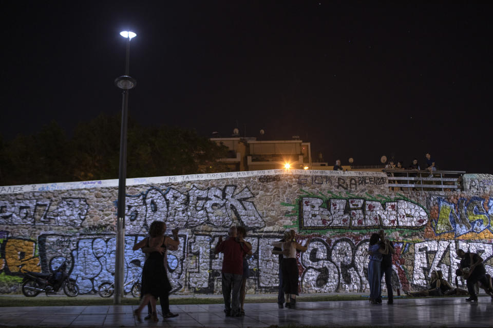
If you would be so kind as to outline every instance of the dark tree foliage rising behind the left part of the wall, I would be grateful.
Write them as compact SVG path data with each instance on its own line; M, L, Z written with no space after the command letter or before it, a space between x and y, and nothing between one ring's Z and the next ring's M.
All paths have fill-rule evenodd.
M120 115L81 122L73 136L56 123L39 133L0 136L0 186L118 178ZM226 147L195 130L144 127L129 119L127 177L222 172Z

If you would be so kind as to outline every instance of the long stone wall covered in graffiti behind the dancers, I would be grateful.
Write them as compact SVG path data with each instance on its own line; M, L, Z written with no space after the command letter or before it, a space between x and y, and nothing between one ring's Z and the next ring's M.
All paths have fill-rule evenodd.
M144 256L132 245L154 220L180 228L180 248L168 254L176 293L220 292L222 257L212 249L232 224L253 245L250 293L276 290L270 243L286 229L311 240L298 257L306 293L368 291L368 240L378 228L394 241L402 290L421 289L435 269L453 282L459 248L479 252L493 275L491 182L473 174L460 192L389 191L383 173L311 170L127 179L125 282L141 274ZM63 260L81 293L112 281L117 194L117 180L0 187L0 292L18 292L23 270L49 272Z

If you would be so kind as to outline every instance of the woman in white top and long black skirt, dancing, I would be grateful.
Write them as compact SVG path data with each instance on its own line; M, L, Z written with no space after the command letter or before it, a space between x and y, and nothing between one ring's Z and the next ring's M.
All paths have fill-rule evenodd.
M286 293L286 308L295 309L296 295L298 295L298 264L296 263L296 250L305 252L308 249L308 241L305 246L294 241L294 230L284 233L284 241L273 242L274 247L282 250L282 288Z

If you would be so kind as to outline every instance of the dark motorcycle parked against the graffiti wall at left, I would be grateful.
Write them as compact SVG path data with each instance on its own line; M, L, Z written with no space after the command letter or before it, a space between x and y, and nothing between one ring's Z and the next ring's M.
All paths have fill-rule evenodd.
M24 296L34 297L40 293L55 294L60 288L63 288L63 292L68 297L79 295L79 286L66 272L67 264L67 261L64 261L53 273L24 272L22 281Z

